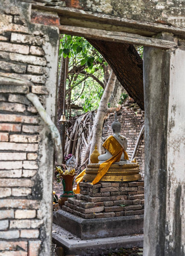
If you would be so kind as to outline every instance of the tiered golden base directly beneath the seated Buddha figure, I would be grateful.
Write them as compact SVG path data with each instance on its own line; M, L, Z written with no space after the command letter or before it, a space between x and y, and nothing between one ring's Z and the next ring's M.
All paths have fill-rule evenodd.
M97 175L100 164L88 164L83 180L92 182ZM138 163L114 163L101 181L137 181L141 180Z

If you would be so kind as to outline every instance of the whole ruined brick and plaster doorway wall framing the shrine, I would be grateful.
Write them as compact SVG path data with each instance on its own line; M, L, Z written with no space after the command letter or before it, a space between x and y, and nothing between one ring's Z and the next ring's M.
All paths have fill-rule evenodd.
M0 1L0 254L50 255L53 142L26 95L54 121L60 32L144 45L144 256L184 256L184 4Z

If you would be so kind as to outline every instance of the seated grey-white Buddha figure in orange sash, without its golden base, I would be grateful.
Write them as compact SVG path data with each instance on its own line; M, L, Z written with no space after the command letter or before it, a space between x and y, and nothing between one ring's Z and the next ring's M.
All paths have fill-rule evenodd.
M128 155L126 153L127 138L120 134L121 123L118 121L116 113L115 113L114 122L112 123L112 129L114 134L112 136L109 136L109 138L102 145L106 149L106 153L98 156L98 160L100 164L110 159L111 157L113 157L112 151L113 151L113 148L114 148L114 151L116 150L116 146L118 146L117 144L120 144L120 146L123 149L119 163L124 163L124 162L127 162L128 160Z

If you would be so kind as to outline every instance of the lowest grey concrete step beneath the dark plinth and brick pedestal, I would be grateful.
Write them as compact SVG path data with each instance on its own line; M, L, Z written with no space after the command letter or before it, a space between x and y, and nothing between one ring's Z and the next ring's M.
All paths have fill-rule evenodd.
M65 249L66 254L100 255L116 248L143 247L143 235L125 235L98 239L81 240L70 232L53 224L53 242ZM96 254L98 253L98 254Z

